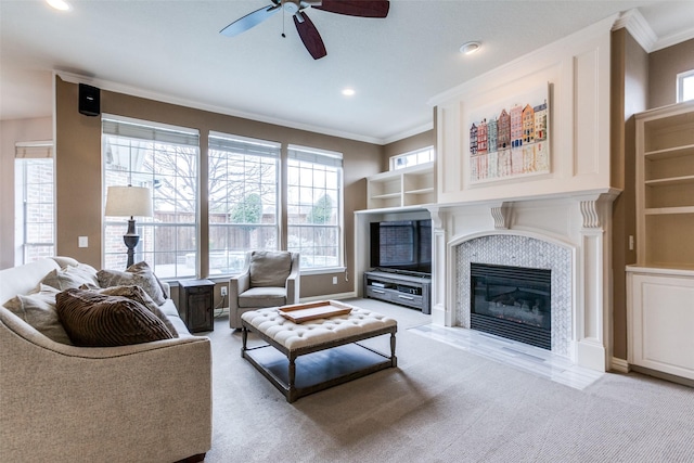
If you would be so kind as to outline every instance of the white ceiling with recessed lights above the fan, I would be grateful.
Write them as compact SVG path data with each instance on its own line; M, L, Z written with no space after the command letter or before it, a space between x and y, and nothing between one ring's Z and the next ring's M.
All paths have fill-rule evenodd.
M219 30L270 0L0 0L0 119L50 116L52 73L103 89L386 143L432 126L435 95L638 8L653 49L694 37L694 1L394 0L384 20L307 10L327 56L291 16ZM282 38L282 31L286 38ZM459 53L470 40L473 55ZM356 89L345 98L344 87Z

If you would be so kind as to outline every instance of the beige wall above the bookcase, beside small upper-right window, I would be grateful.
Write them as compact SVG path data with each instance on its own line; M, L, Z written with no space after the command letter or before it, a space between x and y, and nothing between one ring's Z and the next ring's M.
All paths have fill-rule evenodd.
M694 39L648 55L648 108L677 101L677 75L694 69Z

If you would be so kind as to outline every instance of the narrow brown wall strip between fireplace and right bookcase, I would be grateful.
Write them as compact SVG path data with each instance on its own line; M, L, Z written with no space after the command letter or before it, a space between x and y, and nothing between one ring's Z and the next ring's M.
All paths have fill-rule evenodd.
M627 282L625 267L637 260L629 249L635 236L635 127L633 115L646 108L648 55L626 29L612 35L611 178L621 194L613 203L613 356L627 359Z

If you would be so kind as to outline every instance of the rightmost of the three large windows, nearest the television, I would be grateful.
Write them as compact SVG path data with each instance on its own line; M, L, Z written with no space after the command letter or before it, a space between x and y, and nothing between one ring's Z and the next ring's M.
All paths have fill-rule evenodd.
M290 145L287 157L287 250L309 271L342 267L343 156Z

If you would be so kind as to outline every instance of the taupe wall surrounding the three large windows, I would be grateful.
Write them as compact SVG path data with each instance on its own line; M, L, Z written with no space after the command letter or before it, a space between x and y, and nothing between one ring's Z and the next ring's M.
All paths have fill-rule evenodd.
M101 118L87 117L77 111L78 86L56 77L56 208L57 253L101 267L102 171ZM322 274L301 278L301 297L342 294L354 291L354 211L365 208L364 177L381 171L384 147L371 143L323 136L233 116L145 100L110 91L101 92L102 113L154 120L200 130L201 151L206 152L210 130L337 151L344 154L345 232L347 274ZM201 222L205 223L206 160L201 163ZM201 247L207 247L203 230ZM89 247L77 246L78 236L89 237ZM206 268L206 261L203 268ZM332 284L337 275L338 283ZM202 276L207 276L202 274ZM218 294L218 291L216 292Z

